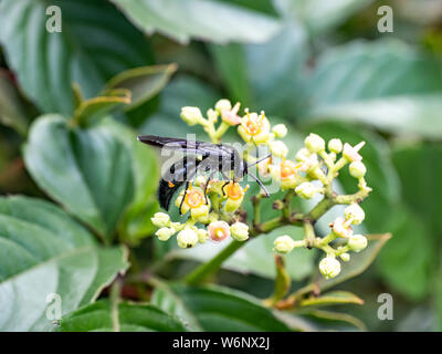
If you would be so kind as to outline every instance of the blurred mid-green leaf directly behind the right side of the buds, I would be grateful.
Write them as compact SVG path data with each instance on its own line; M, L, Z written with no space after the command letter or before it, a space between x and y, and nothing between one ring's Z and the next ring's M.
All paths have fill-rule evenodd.
M338 137L352 146L361 140L367 143L360 154L364 164L367 166L367 184L372 188L372 191L361 204L361 207L366 210L364 226L375 233L390 231L386 227L386 215L390 214L391 208L400 199L400 181L392 165L387 142L372 132L343 123L322 123L313 126L312 131L327 140ZM357 180L349 175L347 167L343 168L339 181L345 192L357 191Z

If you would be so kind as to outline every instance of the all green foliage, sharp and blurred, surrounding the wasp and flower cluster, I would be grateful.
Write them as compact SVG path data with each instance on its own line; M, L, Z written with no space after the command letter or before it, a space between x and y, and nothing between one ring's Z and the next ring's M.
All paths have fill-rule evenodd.
M50 4L61 33L46 31ZM380 33L382 4L0 0L0 330L441 330L442 9L389 1L394 31ZM292 147L308 132L368 143L361 231L393 237L329 282L318 254L287 256L292 289L322 291L295 311L261 300L277 277L273 239L302 230L254 239L203 287L181 280L220 247L151 237L159 164L135 136L203 137L180 107L221 97L287 124ZM50 293L63 303L55 327ZM377 317L380 293L393 321Z

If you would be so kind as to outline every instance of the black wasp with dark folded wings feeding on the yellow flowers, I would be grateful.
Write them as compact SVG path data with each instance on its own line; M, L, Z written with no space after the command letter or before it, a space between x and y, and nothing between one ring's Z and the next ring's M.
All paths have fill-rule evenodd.
M234 147L225 144L211 144L156 135L141 135L138 136L138 140L147 145L185 153L185 156L181 159L173 163L169 167L169 170L166 174L162 174L158 188L159 204L164 209L168 210L173 194L186 184L185 196L179 208L180 212L189 184L197 175L198 170L210 171L204 189L207 200L207 187L217 173L220 173L227 180L224 185L227 186L231 179L228 174L230 175L233 173L233 181L238 181L249 174L249 167L254 166L271 156L266 155L253 164L248 164L241 158ZM269 197L269 191L262 181L253 175L249 176L261 186L265 196Z

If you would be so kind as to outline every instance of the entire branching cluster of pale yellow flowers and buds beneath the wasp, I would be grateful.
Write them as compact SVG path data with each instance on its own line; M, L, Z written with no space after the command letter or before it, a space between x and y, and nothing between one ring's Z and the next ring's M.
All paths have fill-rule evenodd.
M333 138L326 143L319 135L309 134L304 146L290 158L290 150L282 140L287 135L287 127L284 124L272 126L264 112L250 112L245 108L241 115L240 103L232 105L228 100L220 100L207 111L206 116L198 107L182 107L181 118L189 125L201 125L212 143L219 143L227 131L234 127L245 142L243 158L249 164L257 162L253 157L253 149L265 146L272 156L259 162L259 175L271 176L281 190L286 190L286 196L274 201L275 209L281 209L282 216L264 222L260 220L262 212L259 209L262 195L253 196L254 219L248 223L241 205L249 186L198 176L175 200L181 215L188 215L186 221L173 222L164 212L157 212L151 218L152 223L159 228L156 235L160 240L166 241L177 235L178 246L190 248L198 242L220 242L229 237L245 241L251 235L266 233L284 225L304 226L306 235L303 240L295 241L290 236L281 236L274 241L274 251L288 253L298 247L323 250L326 257L319 262L319 270L327 279L339 274L338 259L349 261L350 251L359 252L367 247L366 237L354 235L351 228L364 221L365 212L359 204L371 191L365 179L367 168L359 154L365 142L351 146ZM357 179L358 191L337 195L332 187L333 180L346 166ZM309 212L301 215L292 211L292 198L297 196L312 199L319 195L323 196L320 201ZM347 205L344 217L330 223L327 236L316 237L314 222L339 204ZM339 244L334 248L332 243Z

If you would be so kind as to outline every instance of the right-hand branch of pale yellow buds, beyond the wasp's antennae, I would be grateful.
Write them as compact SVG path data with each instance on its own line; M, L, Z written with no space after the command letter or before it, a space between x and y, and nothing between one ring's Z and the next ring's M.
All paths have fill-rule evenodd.
M359 225L364 221L365 212L358 201L366 198L371 191L365 180L367 168L359 155L359 149L365 143L351 146L334 138L328 142L327 152L325 140L316 134L311 134L306 137L304 145L295 156L296 163L284 159L280 166L269 165L269 169L275 178L281 179L282 188L294 188L295 194L305 199L322 194L324 198L333 199L335 204L348 204L348 207L344 211L344 218L337 218L330 223L332 230L326 237L295 241L288 236L281 236L274 242L274 250L280 253L288 253L296 247L318 248L326 253L326 257L319 262L320 272L327 279L334 278L340 272L340 263L337 258L348 262L350 260L349 251L359 252L367 247L367 238L362 235L354 235L351 229L351 225ZM346 165L349 165L350 175L358 180L359 190L355 195L335 197L332 190L333 179ZM314 180L318 180L319 184L313 184ZM329 244L335 239L344 241L336 249Z

